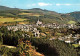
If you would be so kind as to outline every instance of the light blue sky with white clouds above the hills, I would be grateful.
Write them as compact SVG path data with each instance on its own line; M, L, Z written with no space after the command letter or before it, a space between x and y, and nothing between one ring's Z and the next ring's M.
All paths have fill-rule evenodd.
M80 0L0 0L0 5L11 8L41 8L58 13L80 11Z

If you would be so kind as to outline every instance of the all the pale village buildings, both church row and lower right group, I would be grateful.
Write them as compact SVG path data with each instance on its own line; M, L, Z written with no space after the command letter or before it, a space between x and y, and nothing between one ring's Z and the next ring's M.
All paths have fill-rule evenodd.
M48 28L50 30L53 29L60 29L60 28L67 28L67 29L77 29L80 26L77 26L75 24L56 24L56 23L48 23L48 24L43 24L39 19L37 20L36 24L17 24L14 26L7 26L7 29L10 31L25 31L25 32L32 32L34 37L40 38L40 36L46 37L46 33L40 32L37 28L42 27L42 28ZM28 34L22 34L23 37L31 37ZM55 40L58 39L60 41L64 41L65 43L73 43L73 44L79 44L80 45L80 34L69 34L66 36L52 36L49 38L49 40Z

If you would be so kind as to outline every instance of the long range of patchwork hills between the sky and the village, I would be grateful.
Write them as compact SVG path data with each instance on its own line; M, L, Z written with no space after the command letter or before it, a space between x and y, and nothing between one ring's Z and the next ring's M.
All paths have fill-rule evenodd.
M24 18L29 22L35 23L38 18L44 23L66 23L74 21L77 22L80 19L80 12L72 12L67 14L61 14L54 11L49 11L40 8L33 9L17 9L0 6L0 16L12 17L12 18Z

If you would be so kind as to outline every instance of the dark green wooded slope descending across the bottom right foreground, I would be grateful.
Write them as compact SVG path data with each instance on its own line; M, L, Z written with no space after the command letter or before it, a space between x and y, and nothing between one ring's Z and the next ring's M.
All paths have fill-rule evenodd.
M32 44L45 56L78 56L71 44L65 44L59 40L32 39Z

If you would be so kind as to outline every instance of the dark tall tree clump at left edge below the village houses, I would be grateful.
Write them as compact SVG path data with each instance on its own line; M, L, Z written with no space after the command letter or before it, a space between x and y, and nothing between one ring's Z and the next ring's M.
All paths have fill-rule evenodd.
M8 31L6 27L2 27L0 29L0 42L5 45L17 46L18 40L23 37L22 34L24 33L21 31Z

